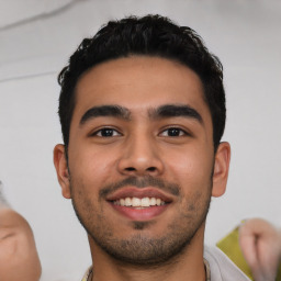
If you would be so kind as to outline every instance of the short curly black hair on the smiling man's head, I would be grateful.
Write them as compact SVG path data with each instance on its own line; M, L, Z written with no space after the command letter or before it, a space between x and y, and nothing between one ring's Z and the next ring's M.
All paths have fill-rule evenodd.
M85 38L58 75L61 87L58 114L66 148L75 109L75 89L81 75L106 60L132 55L164 57L192 69L201 79L213 122L216 150L225 127L223 66L190 27L160 15L128 16L110 21L91 38Z

